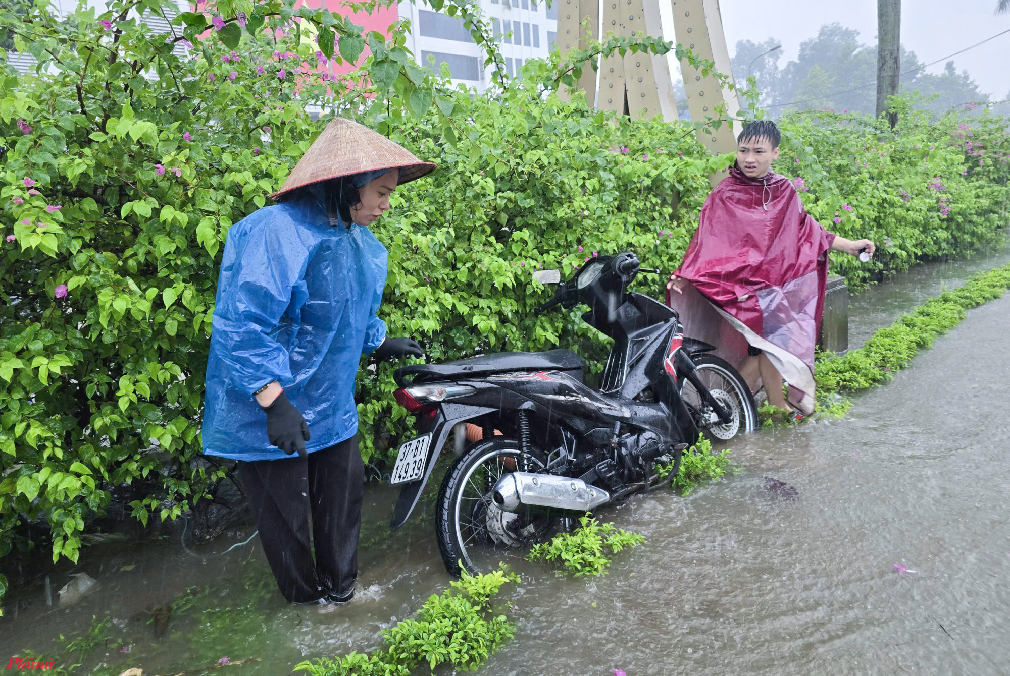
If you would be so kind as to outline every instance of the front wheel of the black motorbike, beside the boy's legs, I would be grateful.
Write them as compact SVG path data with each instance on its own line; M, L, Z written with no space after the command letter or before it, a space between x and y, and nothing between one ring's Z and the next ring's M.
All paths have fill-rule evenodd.
M758 405L743 376L729 362L714 354L699 354L691 359L698 367L696 372L702 384L708 387L715 401L727 409L730 415L728 423L719 420L694 384L684 378L681 382L681 397L697 413L695 423L698 429L709 438L722 441L729 441L741 432L755 431L760 426Z

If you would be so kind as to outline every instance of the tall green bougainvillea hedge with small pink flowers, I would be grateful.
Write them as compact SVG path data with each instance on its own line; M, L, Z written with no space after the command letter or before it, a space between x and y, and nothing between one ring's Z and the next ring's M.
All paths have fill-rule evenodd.
M349 19L292 0L242 0L154 33L138 9L162 11L158 0L118 0L61 21L44 2L24 15L0 9L15 47L38 61L26 75L0 76L0 557L35 540L76 561L82 531L113 493L144 524L174 519L229 471L200 455L199 435L222 244L334 114L439 163L398 191L375 228L391 253L381 311L391 335L414 336L432 360L564 345L599 369L606 344L577 310L532 315L550 294L532 270L571 271L620 250L674 269L707 176L728 161L695 140L707 121L629 121L578 97L561 101L553 89L579 72L557 54L478 95L419 68L401 22L363 35ZM447 11L479 42L490 34L474 5ZM614 38L593 48L671 46ZM324 78L329 61L358 70ZM953 119L902 114L897 136L865 119L792 118L780 171L810 184L804 199L822 222L837 211L844 234L872 225L871 236L890 236L894 253L876 265L991 241L1005 170L969 153L1004 152L1005 132L974 120L981 145L966 147ZM895 158L926 140L942 149L890 159L890 173L855 171L839 149L876 166L884 159L871 147ZM930 187L936 177L943 190ZM906 220L889 230L891 212L879 205L895 200ZM842 269L862 278L863 268ZM636 288L658 295L663 283L642 274ZM410 420L393 403L393 366L362 365L363 453L385 457Z

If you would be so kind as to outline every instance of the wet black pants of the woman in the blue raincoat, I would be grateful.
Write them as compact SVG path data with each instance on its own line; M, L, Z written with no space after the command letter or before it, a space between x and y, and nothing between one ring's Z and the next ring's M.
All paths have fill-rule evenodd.
M358 437L307 458L241 462L238 471L284 597L295 603L349 597L365 481Z

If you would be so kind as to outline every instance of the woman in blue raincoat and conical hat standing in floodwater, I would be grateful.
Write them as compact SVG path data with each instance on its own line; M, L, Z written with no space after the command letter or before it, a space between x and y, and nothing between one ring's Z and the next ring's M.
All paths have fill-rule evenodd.
M228 231L203 451L240 461L267 560L292 602L355 594L364 484L359 362L363 353L421 356L413 340L387 337L376 315L388 253L367 226L389 209L398 185L434 167L338 118L273 196L279 204Z

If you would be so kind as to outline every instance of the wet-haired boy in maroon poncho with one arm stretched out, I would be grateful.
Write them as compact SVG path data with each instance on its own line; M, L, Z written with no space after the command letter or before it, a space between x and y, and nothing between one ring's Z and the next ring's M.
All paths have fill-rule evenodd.
M827 232L807 213L789 179L769 170L779 140L771 120L743 127L736 162L705 201L684 261L670 275L667 303L678 306L673 293L693 285L746 340L747 356L738 361L743 377L752 384L760 375L768 401L787 409L785 377L802 417L814 411L828 250L873 255L874 243Z

